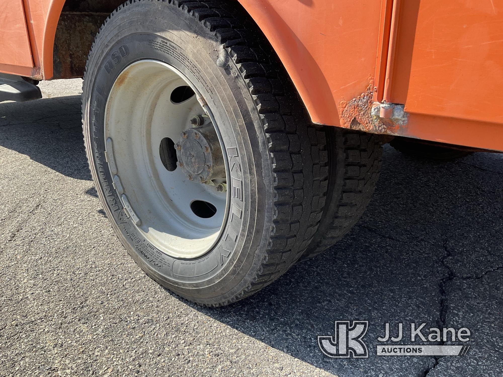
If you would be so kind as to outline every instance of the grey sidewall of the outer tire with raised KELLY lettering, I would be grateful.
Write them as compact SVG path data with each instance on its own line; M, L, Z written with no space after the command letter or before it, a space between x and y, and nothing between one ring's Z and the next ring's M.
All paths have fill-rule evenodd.
M257 109L237 67L192 16L151 2L121 12L95 42L82 95L86 146L100 199L119 239L145 272L189 299L221 302L242 291L256 275L272 226L266 211L272 207L272 173L270 167L262 169L270 161ZM104 140L107 98L120 72L141 59L171 64L196 85L217 121L232 165L225 230L213 249L199 258L173 258L151 245L124 212L112 184Z

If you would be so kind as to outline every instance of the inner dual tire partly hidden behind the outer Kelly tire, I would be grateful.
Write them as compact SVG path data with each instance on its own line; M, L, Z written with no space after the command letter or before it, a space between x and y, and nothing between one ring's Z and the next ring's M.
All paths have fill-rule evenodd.
M362 216L381 169L379 135L327 127L328 190L321 222L299 262L339 241Z

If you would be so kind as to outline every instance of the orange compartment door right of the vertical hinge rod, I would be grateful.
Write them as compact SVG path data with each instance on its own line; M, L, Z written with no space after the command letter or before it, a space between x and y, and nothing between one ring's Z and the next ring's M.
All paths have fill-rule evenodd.
M503 1L403 1L386 100L503 123Z

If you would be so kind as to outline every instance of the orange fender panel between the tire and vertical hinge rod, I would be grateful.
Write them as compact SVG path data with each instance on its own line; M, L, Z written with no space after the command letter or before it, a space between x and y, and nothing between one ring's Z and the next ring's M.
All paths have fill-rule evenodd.
M315 123L339 125L341 99L376 70L381 4L366 0L239 0L268 37Z

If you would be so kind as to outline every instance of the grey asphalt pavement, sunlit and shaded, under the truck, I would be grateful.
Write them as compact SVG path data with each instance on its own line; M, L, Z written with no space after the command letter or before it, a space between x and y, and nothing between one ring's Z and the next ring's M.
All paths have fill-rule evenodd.
M439 163L385 146L375 195L341 242L251 298L200 308L114 236L88 170L80 87L42 82L44 99L0 104L1 376L503 374L503 155ZM369 322L368 358L321 353L316 337L335 320ZM377 356L384 324L399 322L466 327L470 349Z

